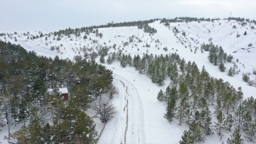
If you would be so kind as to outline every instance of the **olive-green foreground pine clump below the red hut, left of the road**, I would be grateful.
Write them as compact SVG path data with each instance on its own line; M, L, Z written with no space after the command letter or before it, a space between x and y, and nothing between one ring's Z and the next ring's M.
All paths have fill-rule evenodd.
M53 125L40 124L40 116L33 111L29 126L10 134L10 143L96 143L95 124L89 116L75 106L75 98L68 103L58 101Z

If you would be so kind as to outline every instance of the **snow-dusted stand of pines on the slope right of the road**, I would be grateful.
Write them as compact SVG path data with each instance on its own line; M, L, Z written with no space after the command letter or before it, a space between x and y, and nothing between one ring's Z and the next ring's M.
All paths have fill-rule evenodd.
M180 143L205 142L206 136L214 133L222 139L224 134L232 131L234 134L228 143L236 141L239 135L241 142L244 142L243 138L256 142L256 99L250 97L243 101L241 87L236 90L222 78L210 77L204 66L199 70L194 62L186 63L176 53L165 56L143 54L142 58L139 55L131 58L130 54L122 52L109 54L107 63L114 61L119 61L122 67L134 66L159 86L170 78L170 85L166 90L160 90L157 98L167 103L164 118L168 122L176 118L179 125L189 126Z

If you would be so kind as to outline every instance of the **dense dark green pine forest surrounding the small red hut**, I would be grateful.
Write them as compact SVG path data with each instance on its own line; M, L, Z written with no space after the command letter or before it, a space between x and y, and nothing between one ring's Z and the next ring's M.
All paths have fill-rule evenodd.
M113 80L111 70L86 60L37 56L34 51L1 41L0 67L1 126L6 121L10 126L24 125L10 134L10 143L97 141L94 121L84 111L108 90ZM68 101L58 90L61 86L69 90Z

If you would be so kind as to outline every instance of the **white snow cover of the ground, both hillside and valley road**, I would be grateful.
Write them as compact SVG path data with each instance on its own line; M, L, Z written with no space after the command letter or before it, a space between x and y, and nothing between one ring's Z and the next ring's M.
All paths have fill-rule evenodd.
M236 29L232 28L234 25L237 26ZM249 24L241 26L238 25L238 22L228 22L226 20L200 23L177 22L170 23L169 29L157 21L150 23L150 26L154 27L158 32L150 35L144 33L143 30L139 30L136 26L110 27L98 29L103 34L102 38L96 37L95 34L90 34L84 40L82 38L84 34L81 34L80 38L75 38L74 35L71 35L73 41L70 41L70 38L66 36L63 36L61 41L53 40L53 36L49 37L46 41L45 37L28 40L27 36L22 35L26 32L14 34L14 32L9 31L0 33L10 34L12 39L7 36L5 36L6 39L4 36L0 37L0 39L20 44L26 50L34 50L39 55L52 58L58 55L60 58L70 58L72 60L75 55L83 55L82 48L84 46L97 51L96 46L113 46L116 44L117 49L111 48L110 52L117 52L120 46L119 49L123 49L122 53L130 54L132 58L135 54L139 54L142 57L142 54L146 54L147 50L148 54L170 54L176 52L186 62L195 62L199 69L205 66L211 76L222 78L230 82L235 88L241 86L244 98L250 96L256 98L256 88L248 86L246 82L242 82L243 73L250 72L250 79L255 79L252 70L256 70L256 30L250 29ZM178 40L172 31L174 26L180 32L186 32L186 37L182 36L182 33L178 33L177 37L180 39ZM247 34L243 35L245 31ZM46 32L43 31L42 33L45 34ZM30 32L30 34L36 35L38 32ZM237 34L240 34L240 37L237 38ZM129 37L133 35L135 36L134 42L130 42L128 46L123 46L122 43L129 42ZM17 38L17 42L14 41L14 37ZM136 38L140 38L142 42L138 42ZM213 66L209 62L207 59L209 52L201 52L201 44L203 42L209 43L209 38L212 38L214 45L222 46L227 54L232 54L234 60L239 59L239 62L236 62L238 69L241 70L239 74L229 77L226 72L220 72L218 66ZM98 40L98 42L93 43L92 40ZM159 43L155 42L156 40L159 40ZM143 47L146 46L146 43L150 44L149 48ZM249 43L252 43L252 46L248 46ZM62 46L60 46L61 44ZM191 45L192 52L189 45ZM60 51L50 50L50 46L59 46ZM166 46L168 50L162 50ZM196 53L194 53L195 47L198 47ZM90 53L88 50L87 52ZM97 58L97 62L98 60L99 58ZM166 103L158 102L157 100L158 91L160 89L165 90L170 81L166 80L166 85L164 86L157 86L146 75L138 74L134 67L127 66L122 68L119 62L103 65L114 72L113 83L114 86L117 86L119 94L113 98L112 102L117 107L118 114L106 124L98 143L178 143L183 131L188 129L188 127L185 124L178 126L178 122L175 120L171 124L167 122L163 118L163 114L166 112ZM226 63L227 70L230 66L233 66L233 64ZM98 120L95 120L95 122L97 123L96 129L101 131L103 124ZM17 130L17 128L15 126L11 127L12 130ZM3 135L7 134L6 130L6 127L4 127L3 131L0 132L0 141L2 142L4 142ZM229 137L230 134L226 134L222 141L226 142L226 139ZM219 141L217 134L214 134L207 137L205 143L222 142Z

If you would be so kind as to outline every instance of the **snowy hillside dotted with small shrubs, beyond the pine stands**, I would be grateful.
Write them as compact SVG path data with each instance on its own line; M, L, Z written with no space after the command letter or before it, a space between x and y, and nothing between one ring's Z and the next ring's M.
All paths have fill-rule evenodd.
M20 44L26 50L34 50L39 55L50 56L54 58L58 55L60 58L70 58L74 60L74 56L84 54L90 54L92 51L97 52L101 46L108 46L110 52L118 52L122 50L122 54L130 54L133 58L137 54L170 54L176 52L185 58L186 62L196 62L198 68L206 66L206 70L210 75L216 78L223 78L230 82L234 87L242 86L245 96L250 97L251 92L254 88L247 86L246 83L242 82L243 73L252 73L252 70L256 70L255 58L256 58L256 30L251 29L253 24L241 26L240 22L231 20L215 20L214 22L174 22L170 23L170 27L164 26L160 21L150 23L150 26L154 27L158 32L156 34L144 33L143 30L139 30L137 26L130 27L110 27L110 28L99 28L98 32L103 34L100 38L96 34L90 33L87 38L84 39L85 33L80 34L76 37L74 34L70 34L70 38L62 35L61 40L57 40L57 36L50 34L49 32L1 32L8 34L9 36L0 37L4 42L12 42ZM174 26L180 33L174 35ZM236 26L237 28L233 28ZM182 31L186 33L184 37ZM246 35L243 35L246 31ZM42 38L27 39L33 36L43 34ZM26 34L26 35L24 35ZM46 35L45 35L46 34ZM48 36L47 40L45 37ZM237 34L240 37L237 38ZM133 42L130 42L133 37ZM17 42L15 42L15 38ZM226 72L231 63L226 63L226 72L220 72L218 66L213 66L208 58L209 52L201 52L202 43L209 44L209 39L212 38L211 42L214 45L222 46L226 54L231 54L234 57L234 61L238 58L238 69L241 70L239 74L234 77L227 77ZM55 39L55 40L54 40ZM138 41L142 42L138 42ZM156 42L158 40L158 42ZM124 43L127 45L124 46ZM251 43L252 46L248 46ZM116 44L116 49L113 46ZM150 47L146 47L149 44ZM54 47L51 49L51 47ZM167 47L167 51L162 50ZM196 53L194 53L195 49ZM89 56L87 58L90 58ZM244 66L243 66L244 65ZM245 68L244 68L245 67ZM255 76L250 75L250 79L254 80ZM246 93L248 91L248 93Z

